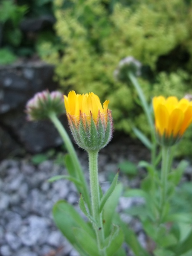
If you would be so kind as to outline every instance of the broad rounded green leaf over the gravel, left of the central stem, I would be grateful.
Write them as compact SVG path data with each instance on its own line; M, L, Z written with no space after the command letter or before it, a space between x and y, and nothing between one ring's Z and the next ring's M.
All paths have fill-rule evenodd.
M76 244L76 239L73 233L73 228L78 227L95 239L95 234L91 227L81 218L78 212L66 201L58 201L53 207L53 218L58 229L70 241L71 244Z

